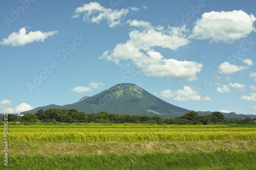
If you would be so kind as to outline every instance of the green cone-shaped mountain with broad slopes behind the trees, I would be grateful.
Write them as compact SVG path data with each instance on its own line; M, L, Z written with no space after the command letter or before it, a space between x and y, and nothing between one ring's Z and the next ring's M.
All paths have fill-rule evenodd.
M175 118L191 111L164 102L135 84L122 83L91 97L84 96L78 102L73 104L64 106L48 105L22 112L22 114L28 112L36 113L38 110L47 110L50 108L77 109L79 112L84 111L84 113L87 114L104 111L108 113L131 115L158 115L163 118ZM199 112L199 115L208 115L211 113L212 112L210 111ZM236 113L225 114L225 117L228 118L244 118L244 116L247 117L247 115L238 116ZM256 115L253 116L256 117Z

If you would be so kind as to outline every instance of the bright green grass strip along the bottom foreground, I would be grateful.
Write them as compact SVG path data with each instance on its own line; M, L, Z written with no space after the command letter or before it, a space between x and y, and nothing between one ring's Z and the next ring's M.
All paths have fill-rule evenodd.
M3 155L1 155L2 157ZM9 157L8 169L256 169L255 152ZM25 163L26 162L26 163Z

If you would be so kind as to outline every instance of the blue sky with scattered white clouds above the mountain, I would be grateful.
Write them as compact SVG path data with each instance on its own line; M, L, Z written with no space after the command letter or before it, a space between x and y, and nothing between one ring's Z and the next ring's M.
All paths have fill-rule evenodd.
M256 114L253 0L0 4L2 113L134 83L186 109Z

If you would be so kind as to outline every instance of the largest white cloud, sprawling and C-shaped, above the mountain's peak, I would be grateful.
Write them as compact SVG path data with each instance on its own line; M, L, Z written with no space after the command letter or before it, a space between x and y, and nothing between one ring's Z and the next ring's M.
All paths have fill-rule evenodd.
M173 80L196 80L197 73L203 67L201 63L165 59L161 53L153 49L155 46L160 46L177 50L180 46L188 44L188 40L182 35L182 32L186 31L185 27L169 27L165 31L156 30L153 27L142 31L133 30L129 34L130 40L117 44L113 51L105 51L100 59L114 61L118 65L122 60L132 60L146 76L167 77Z

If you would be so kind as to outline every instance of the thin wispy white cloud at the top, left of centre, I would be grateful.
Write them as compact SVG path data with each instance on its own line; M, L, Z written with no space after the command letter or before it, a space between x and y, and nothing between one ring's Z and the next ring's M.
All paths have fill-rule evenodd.
M104 8L99 3L91 2L89 4L84 4L82 7L75 9L75 15L73 18L80 17L83 14L84 21L91 21L93 23L100 23L101 20L107 20L111 28L120 25L121 20L130 12L138 11L138 8L132 7L121 10L113 10L111 8Z

